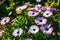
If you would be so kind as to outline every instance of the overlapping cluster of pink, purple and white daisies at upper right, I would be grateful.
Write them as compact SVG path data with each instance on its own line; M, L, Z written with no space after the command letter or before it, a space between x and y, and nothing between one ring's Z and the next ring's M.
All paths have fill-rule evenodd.
M38 4L35 5L35 7L29 9L28 16L38 16L42 12L43 12L42 16L48 18L51 15L55 14L56 8L52 8L52 7L50 8Z

